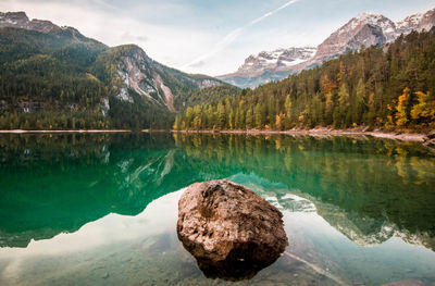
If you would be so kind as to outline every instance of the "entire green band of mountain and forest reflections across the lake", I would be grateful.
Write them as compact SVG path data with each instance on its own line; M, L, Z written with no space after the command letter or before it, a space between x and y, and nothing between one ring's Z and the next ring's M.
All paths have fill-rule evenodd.
M396 235L435 247L435 160L418 144L197 134L1 135L0 246L25 247L111 212L136 215L223 177L285 210L316 211L359 245Z

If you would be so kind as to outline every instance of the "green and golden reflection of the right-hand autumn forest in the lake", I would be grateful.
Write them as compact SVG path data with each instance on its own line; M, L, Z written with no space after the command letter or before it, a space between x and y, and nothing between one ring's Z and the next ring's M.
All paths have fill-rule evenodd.
M349 220L368 236L391 223L403 233L435 236L434 157L419 144L364 137L177 136L176 146L195 164L207 162L204 170L221 165L233 174L254 173L283 183L352 214ZM192 149L189 141L198 137L202 145ZM223 141L231 147L223 150Z

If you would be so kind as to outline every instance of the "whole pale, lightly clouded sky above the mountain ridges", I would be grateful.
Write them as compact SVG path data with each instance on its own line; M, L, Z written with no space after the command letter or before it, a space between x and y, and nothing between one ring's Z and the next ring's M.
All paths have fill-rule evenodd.
M188 73L235 72L250 54L315 47L361 12L393 21L434 0L0 0L0 11L73 26L109 46L136 43Z

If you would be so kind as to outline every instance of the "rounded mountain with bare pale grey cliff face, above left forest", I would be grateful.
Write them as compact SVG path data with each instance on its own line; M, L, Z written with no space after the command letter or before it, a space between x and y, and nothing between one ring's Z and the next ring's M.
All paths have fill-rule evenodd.
M113 95L120 101L134 103L132 94L136 94L170 111L183 108L181 104L175 108L174 102L186 92L223 84L212 77L189 75L160 64L135 45L114 47L101 53L95 63L95 73L112 82Z

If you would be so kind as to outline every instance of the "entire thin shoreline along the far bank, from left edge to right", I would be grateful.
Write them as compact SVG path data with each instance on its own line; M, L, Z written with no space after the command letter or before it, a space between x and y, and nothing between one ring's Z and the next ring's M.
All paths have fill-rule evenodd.
M422 133L403 133L363 129L330 129L330 128L312 128L312 129L289 129L289 130L260 130L260 129L238 129L238 130L162 130L162 129L79 129L79 130L0 130L0 134L98 134L98 133L184 133L184 134L245 134L245 135L304 135L313 137L325 136L372 136L375 138L394 139L402 141L425 142L431 140L426 134Z

